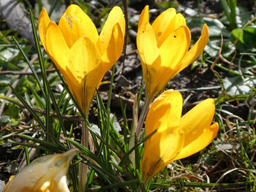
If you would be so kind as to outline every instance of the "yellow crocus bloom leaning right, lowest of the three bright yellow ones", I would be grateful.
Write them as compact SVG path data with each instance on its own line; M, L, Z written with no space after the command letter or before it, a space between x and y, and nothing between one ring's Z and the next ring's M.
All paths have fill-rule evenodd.
M144 146L141 169L145 183L155 174L181 158L205 148L217 136L214 99L206 99L181 117L182 96L168 90L154 100L146 117L146 136L157 130Z

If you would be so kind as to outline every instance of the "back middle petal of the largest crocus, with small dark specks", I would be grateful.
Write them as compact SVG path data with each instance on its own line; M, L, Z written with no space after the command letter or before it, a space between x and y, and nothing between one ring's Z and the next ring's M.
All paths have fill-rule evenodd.
M78 5L70 5L59 20L59 28L67 41L69 48L80 38L86 35L94 44L99 35L97 28L88 15Z

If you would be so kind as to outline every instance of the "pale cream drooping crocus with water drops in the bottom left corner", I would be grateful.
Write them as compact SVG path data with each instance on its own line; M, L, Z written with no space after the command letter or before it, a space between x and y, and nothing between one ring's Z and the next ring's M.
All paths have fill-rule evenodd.
M66 174L75 153L78 149L37 158L16 174L3 192L69 192Z

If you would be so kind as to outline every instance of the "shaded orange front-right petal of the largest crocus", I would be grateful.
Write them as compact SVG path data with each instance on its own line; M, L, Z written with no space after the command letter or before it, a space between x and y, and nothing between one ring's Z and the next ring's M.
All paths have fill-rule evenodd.
M105 53L102 55L102 61L104 65L104 74L108 72L111 66L116 63L118 58L120 58L124 46L124 35L121 31L119 23L116 23L113 26L111 37L108 42L108 47L105 50Z

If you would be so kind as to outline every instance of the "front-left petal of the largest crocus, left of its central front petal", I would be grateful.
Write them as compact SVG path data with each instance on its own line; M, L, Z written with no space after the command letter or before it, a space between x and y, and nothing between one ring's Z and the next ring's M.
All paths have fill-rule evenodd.
M61 30L53 21L49 23L47 28L45 50L61 73L66 77L67 55L69 53L69 47L67 47L67 43L61 33Z

